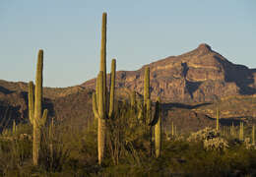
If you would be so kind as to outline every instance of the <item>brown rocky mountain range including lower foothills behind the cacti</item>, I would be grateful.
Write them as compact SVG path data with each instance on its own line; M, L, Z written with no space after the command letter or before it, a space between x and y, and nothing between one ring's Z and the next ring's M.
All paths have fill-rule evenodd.
M164 102L166 131L171 122L179 131L215 126L213 118L217 106L224 118L221 124L237 123L241 119L256 120L256 70L229 62L207 44L145 65L137 71L118 71L117 96L123 96L126 89L143 94L146 66L151 71L152 98L160 95ZM49 110L49 118L88 125L94 119L92 93L95 83L93 79L76 87L43 88L43 107ZM28 84L0 80L0 130L10 127L13 120L17 123L29 121Z

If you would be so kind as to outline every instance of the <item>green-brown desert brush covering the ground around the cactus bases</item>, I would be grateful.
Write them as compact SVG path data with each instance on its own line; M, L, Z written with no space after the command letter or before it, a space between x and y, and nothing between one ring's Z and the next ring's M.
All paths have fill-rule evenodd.
M68 122L47 125L42 132L38 166L32 165L32 126L20 124L0 137L2 176L235 176L255 175L256 149L250 142L206 128L189 135L162 133L159 158L151 153L149 126L128 102L115 106L107 121L107 144L97 163L97 121L87 128ZM226 128L225 128L226 129ZM237 128L237 131L238 132ZM249 133L245 132L246 135ZM249 135L250 136L250 135ZM206 141L224 141L205 146ZM247 138L248 140L248 138ZM212 145L212 144L211 144ZM226 146L224 146L226 145ZM227 146L228 145L228 146ZM217 147L216 147L217 146Z

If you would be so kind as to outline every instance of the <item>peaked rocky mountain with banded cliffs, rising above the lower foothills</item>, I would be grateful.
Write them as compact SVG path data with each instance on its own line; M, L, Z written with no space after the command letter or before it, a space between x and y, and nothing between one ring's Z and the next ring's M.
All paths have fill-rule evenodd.
M117 72L117 89L128 88L143 94L146 66L151 70L153 99L160 95L164 101L204 102L256 92L255 70L229 62L205 43L188 53L167 57L137 71ZM93 79L81 86L95 89L95 82Z

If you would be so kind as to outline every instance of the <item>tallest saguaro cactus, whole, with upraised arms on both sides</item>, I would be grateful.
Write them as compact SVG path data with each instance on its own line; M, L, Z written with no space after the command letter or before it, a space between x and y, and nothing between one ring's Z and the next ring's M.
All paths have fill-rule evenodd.
M106 119L112 117L114 111L116 60L111 63L110 93L107 97L106 89L106 13L102 14L100 68L96 79L96 93L93 94L93 109L97 118L97 153L98 163L101 164L104 156ZM109 100L109 102L108 102Z

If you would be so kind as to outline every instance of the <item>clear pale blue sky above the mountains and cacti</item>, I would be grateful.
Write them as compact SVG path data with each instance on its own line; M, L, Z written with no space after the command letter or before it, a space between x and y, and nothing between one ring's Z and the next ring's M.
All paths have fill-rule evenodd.
M0 0L0 80L34 81L44 51L43 86L96 77L101 15L107 13L107 69L145 64L209 44L256 68L255 0Z

